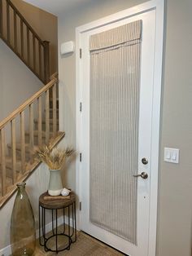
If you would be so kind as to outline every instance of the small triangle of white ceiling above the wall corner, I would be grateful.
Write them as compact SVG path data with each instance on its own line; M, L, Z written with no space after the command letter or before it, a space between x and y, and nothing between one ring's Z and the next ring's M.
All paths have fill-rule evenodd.
M54 15L59 15L73 7L80 6L82 3L91 2L91 0L24 0L24 2L28 2Z

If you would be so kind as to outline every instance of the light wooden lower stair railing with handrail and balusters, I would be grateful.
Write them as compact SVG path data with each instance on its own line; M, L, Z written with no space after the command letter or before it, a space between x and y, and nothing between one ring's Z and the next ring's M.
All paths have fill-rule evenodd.
M1 191L0 195L5 196L7 193L7 142L6 134L7 130L11 132L11 182L14 185L17 182L17 170L16 170L16 133L20 131L20 161L22 174L28 172L26 162L33 163L33 148L34 148L34 114L37 115L37 145L42 144L42 115L45 113L46 129L45 136L43 137L45 143L50 140L50 110L52 112L53 127L51 132L55 137L57 135L57 83L58 79L52 77L52 80L43 86L35 95L26 100L24 104L20 105L13 113L0 122L0 161L1 161ZM51 95L51 99L50 99ZM50 105L50 102L52 103ZM34 112L33 107L36 107ZM25 120L25 114L28 117ZM10 129L7 129L7 127ZM26 161L26 131L25 126L28 126L28 143L30 151L30 159ZM18 143L18 142L17 142Z

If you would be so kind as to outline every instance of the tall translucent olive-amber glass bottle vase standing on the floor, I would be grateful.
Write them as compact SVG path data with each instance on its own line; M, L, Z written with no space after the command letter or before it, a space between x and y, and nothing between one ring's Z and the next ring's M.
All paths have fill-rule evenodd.
M30 256L35 251L35 220L25 184L17 184L18 191L11 214L10 240L13 256Z

